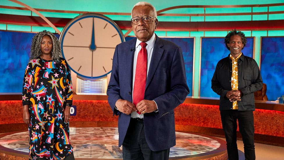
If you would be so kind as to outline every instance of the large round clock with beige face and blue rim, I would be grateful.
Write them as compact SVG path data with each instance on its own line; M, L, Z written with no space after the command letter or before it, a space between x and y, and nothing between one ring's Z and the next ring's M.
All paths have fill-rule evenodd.
M85 80L106 78L115 47L124 41L122 31L111 19L95 13L75 17L60 35L63 58Z

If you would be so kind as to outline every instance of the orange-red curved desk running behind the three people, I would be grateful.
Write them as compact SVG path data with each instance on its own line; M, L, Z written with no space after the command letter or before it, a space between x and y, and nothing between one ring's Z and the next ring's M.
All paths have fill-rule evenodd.
M21 96L0 97L0 133L27 129L22 120ZM107 96L74 95L73 105L77 106L77 115L71 117L70 126L117 126L118 117L112 116ZM187 98L175 108L176 130L224 137L218 105L216 99ZM284 105L256 101L255 106L255 142L284 146Z

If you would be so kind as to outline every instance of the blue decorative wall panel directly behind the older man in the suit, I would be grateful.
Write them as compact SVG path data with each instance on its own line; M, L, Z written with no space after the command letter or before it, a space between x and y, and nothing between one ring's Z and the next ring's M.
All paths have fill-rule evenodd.
M134 37L125 37L125 41L133 39ZM185 64L185 72L187 77L187 85L190 93L188 96L192 96L192 72L193 72L193 50L194 50L194 38L163 38L171 41L182 49L182 54Z

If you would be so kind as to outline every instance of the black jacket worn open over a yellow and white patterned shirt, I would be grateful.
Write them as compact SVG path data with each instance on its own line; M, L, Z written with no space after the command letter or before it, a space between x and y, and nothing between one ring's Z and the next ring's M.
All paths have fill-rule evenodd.
M212 77L211 88L220 95L220 110L231 110L233 103L226 97L227 92L232 90L232 60L230 54L221 59ZM262 88L262 78L256 61L241 55L238 60L238 89L243 95L238 102L238 110L255 110L254 93Z

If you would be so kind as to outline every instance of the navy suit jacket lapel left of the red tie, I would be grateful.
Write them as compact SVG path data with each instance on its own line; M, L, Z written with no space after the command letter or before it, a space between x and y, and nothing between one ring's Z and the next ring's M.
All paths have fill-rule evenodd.
M136 38L129 40L129 45L125 48L125 77L126 77L126 84L129 84L129 87L132 91L132 77L133 77L133 58L135 50Z

